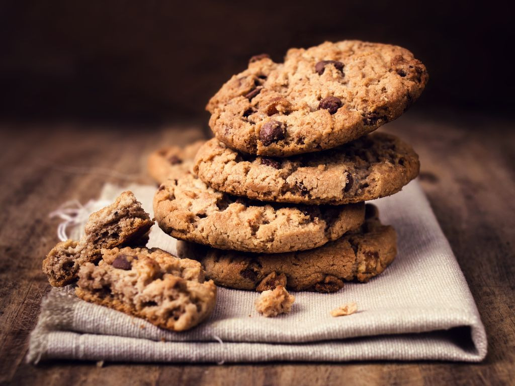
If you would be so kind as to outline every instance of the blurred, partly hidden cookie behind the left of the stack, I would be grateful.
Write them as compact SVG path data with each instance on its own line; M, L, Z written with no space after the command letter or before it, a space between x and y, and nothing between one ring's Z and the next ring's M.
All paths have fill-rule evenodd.
M185 147L169 146L148 156L147 170L158 184L171 178L179 178L189 172L193 159L205 141L197 141Z

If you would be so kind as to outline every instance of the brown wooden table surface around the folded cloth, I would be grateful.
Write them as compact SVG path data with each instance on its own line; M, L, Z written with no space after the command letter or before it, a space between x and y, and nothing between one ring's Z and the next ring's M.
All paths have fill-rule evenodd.
M387 125L421 158L422 186L449 238L488 335L483 363L25 363L49 285L41 261L58 241L48 213L95 198L105 182L149 182L146 155L206 135L198 126L0 125L0 384L515 384L515 132L470 114Z

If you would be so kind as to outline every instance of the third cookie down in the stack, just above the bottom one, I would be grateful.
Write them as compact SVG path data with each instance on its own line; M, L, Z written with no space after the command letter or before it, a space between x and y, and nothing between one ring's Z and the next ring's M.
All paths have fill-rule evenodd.
M364 221L363 203L288 206L236 198L187 174L164 182L156 192L154 215L175 238L220 249L279 253L312 249Z

